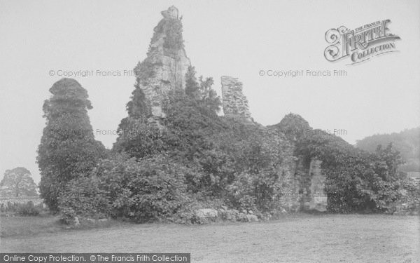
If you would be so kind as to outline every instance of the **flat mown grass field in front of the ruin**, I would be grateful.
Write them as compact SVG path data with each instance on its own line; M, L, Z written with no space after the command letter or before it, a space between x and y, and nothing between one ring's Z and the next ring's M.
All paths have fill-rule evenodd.
M10 229L22 220L16 218L14 223L1 218L1 252L190 252L191 262L420 259L419 217L415 216L291 215L272 222L204 226L120 223L80 230L63 229L50 217L40 220L43 224L34 223L38 225L32 227L34 231L13 234Z

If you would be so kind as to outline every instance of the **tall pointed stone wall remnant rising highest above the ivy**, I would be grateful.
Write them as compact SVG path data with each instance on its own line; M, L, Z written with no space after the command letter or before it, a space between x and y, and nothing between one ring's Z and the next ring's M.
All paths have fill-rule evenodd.
M182 23L178 9L162 11L163 19L154 29L147 58L134 69L137 85L143 90L153 116L164 117L162 101L169 90L185 88L190 59L183 48Z

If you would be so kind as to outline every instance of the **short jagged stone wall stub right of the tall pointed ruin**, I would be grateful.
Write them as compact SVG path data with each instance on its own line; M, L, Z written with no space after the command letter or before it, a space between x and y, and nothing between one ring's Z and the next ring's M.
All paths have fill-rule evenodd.
M242 83L232 76L222 76L221 81L225 116L251 121L248 100L242 93Z

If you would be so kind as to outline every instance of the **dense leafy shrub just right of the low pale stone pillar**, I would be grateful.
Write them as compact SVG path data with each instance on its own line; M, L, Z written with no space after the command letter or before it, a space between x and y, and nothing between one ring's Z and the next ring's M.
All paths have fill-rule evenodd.
M354 151L349 156L337 155L337 164L328 166L328 208L332 212L384 213L402 198L404 173L397 151L389 145L378 147L375 154Z

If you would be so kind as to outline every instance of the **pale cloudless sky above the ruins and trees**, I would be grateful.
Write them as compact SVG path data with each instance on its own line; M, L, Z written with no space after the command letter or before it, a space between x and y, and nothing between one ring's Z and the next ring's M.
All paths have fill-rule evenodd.
M40 176L36 149L48 89L57 71L77 76L88 92L96 130L116 130L127 113L134 76L97 76L131 70L144 60L160 11L183 15L186 53L198 74L235 76L244 83L253 119L279 123L289 112L314 128L344 129L356 140L419 126L420 1L4 1L0 0L0 178L23 166ZM390 19L400 52L358 65L328 62L325 32ZM50 76L53 71L55 76ZM345 70L342 77L276 78L260 70ZM111 148L116 136L97 135Z

